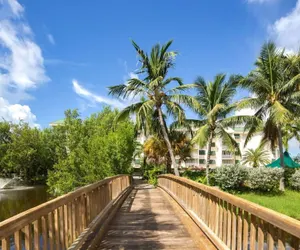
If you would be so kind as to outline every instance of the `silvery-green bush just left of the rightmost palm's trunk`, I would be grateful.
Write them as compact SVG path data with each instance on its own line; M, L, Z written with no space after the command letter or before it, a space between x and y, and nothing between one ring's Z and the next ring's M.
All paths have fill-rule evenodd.
M252 168L249 169L250 188L260 192L279 190L280 179L283 177L281 168Z

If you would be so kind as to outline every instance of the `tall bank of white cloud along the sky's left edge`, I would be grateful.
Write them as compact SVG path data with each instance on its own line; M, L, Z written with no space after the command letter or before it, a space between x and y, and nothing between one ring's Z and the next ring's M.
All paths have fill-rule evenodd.
M0 0L0 116L35 125L29 106L18 102L30 98L28 89L49 80L40 47L23 17L17 0Z

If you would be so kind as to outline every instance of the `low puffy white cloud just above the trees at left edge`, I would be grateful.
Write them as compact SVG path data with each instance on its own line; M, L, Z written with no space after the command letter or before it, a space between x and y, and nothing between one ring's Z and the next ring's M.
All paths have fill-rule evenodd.
M38 127L36 116L31 112L30 107L20 104L9 104L7 100L0 97L0 120L18 123L27 122L30 126Z

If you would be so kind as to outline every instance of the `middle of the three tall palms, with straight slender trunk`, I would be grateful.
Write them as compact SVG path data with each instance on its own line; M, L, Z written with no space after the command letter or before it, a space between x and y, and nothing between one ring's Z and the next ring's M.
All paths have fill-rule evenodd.
M218 74L212 82L206 82L198 77L193 85L196 90L196 106L190 106L200 119L186 119L185 124L198 128L193 142L200 147L207 145L206 155L206 178L209 184L209 162L212 142L215 137L221 138L225 145L235 148L240 154L239 145L227 132L226 128L252 120L251 116L229 116L235 109L236 104L231 103L236 93L239 77L231 76L226 81L225 74Z

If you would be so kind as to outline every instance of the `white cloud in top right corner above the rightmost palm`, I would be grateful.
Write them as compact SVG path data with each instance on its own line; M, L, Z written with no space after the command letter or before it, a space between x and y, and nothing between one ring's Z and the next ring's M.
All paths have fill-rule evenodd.
M300 48L300 0L286 16L278 19L270 27L270 35L279 47L287 52L297 52Z

